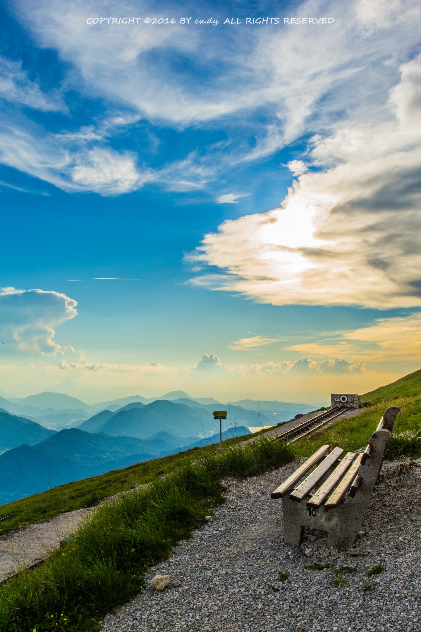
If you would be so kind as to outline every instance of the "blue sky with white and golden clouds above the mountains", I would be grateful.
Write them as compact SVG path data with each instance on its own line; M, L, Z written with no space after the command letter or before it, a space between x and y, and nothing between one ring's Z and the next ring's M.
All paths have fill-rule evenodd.
M418 368L418 3L1 10L3 391L324 401Z

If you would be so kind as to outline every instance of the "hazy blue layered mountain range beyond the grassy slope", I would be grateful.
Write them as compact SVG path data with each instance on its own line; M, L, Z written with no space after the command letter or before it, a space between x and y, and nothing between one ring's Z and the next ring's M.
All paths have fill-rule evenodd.
M310 408L251 399L223 404L184 391L92 405L49 391L0 396L0 502L219 441L216 409L227 410L223 430L235 435Z

